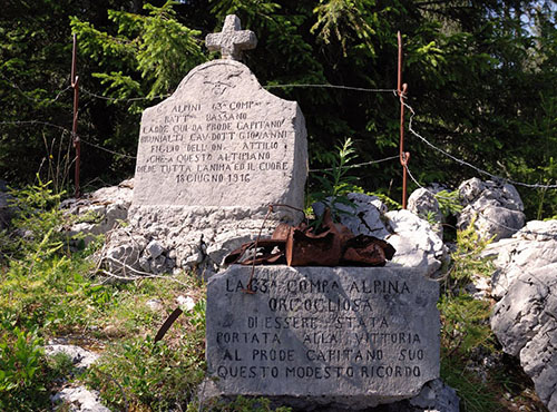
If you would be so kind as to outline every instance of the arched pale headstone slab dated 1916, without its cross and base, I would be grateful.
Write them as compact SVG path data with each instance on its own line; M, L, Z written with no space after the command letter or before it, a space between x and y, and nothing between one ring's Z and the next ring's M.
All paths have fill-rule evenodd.
M214 60L141 117L134 206L303 206L304 118L250 69ZM284 210L292 216L292 210Z

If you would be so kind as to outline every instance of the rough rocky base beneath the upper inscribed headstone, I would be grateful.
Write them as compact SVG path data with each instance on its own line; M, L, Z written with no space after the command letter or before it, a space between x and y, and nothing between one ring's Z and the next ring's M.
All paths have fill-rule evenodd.
M120 275L179 268L208 277L229 252L254 241L260 230L268 237L278 223L302 219L290 208L277 207L265 220L266 215L266 207L133 206L129 225L107 237L104 258L109 271Z

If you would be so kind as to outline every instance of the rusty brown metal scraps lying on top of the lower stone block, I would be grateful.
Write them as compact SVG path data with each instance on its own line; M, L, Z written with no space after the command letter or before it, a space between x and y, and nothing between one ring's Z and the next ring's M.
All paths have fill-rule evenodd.
M251 252L250 255L247 252ZM331 212L325 209L319 230L305 223L297 226L282 223L270 239L257 236L255 242L245 243L228 254L224 263L252 265L252 276L245 292L253 293L250 286L254 265L383 266L394 252L394 247L385 241L367 235L354 236L346 226L335 224Z

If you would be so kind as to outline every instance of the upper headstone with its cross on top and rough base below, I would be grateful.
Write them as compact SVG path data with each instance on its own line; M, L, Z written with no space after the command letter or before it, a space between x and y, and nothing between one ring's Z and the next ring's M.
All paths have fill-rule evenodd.
M305 120L238 61L255 35L236 16L207 36L222 59L194 68L141 117L130 223L184 266L203 243L217 264L257 234L270 204L303 208ZM296 223L292 208L271 219ZM192 246L194 245L194 246ZM197 251L198 252L198 251Z

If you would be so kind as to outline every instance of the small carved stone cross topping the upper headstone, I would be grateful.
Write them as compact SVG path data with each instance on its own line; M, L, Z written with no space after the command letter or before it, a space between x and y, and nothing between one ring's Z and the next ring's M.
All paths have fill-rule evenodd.
M205 46L211 51L221 51L223 59L240 60L242 50L255 49L257 38L253 31L241 29L240 19L235 14L228 14L224 20L223 31L207 35Z

